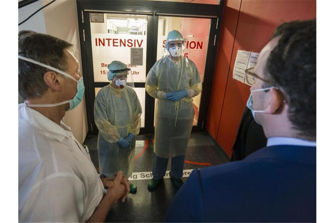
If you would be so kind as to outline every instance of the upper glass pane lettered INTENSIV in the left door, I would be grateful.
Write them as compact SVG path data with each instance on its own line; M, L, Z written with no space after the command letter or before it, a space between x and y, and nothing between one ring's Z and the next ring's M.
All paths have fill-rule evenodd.
M131 68L134 82L145 82L147 16L94 15L101 19L100 22L92 20L90 13L94 82L109 82L107 66L115 60Z

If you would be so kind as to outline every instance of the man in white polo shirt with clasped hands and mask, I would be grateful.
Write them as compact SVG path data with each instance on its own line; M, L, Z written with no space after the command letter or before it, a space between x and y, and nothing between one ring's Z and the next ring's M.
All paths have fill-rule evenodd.
M19 222L103 222L112 204L126 199L129 183L121 171L100 179L87 147L62 122L84 93L72 44L20 34Z

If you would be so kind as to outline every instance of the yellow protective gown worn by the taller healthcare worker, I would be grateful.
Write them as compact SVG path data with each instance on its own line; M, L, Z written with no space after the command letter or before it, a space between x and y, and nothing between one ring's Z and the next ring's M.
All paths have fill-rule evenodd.
M202 84L195 64L182 57L172 61L167 56L150 69L145 90L157 98L154 152L162 158L185 155L190 139L194 107L192 97L198 95ZM187 90L188 96L179 101L169 101L165 93Z

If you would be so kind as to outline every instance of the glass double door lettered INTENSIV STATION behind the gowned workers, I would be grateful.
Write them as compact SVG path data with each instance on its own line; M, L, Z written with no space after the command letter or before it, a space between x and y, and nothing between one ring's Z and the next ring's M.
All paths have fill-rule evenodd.
M211 25L217 19L159 15L154 12L126 13L103 10L82 12L85 27L84 75L87 76L88 85L85 98L89 134L98 133L94 123L94 100L98 91L109 84L107 66L115 60L122 61L131 69L134 90L142 106L140 134L154 132L156 101L145 91L145 78L154 63L163 57L167 33L173 29L180 31L186 38L183 55L195 63L203 83L206 75L209 75L208 54L212 53L212 47L209 47L210 32ZM203 129L203 119L207 116L207 108L202 108L202 101L209 98L210 89L204 90L193 98L194 131Z

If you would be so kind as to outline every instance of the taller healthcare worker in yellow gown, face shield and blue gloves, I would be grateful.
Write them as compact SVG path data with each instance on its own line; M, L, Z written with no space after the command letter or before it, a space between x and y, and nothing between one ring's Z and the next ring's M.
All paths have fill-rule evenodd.
M202 88L197 67L182 55L184 42L179 31L170 31L164 57L153 65L146 77L145 90L158 99L153 178L148 182L149 189L156 188L165 175L169 158L172 158L173 182L178 188L183 184L181 177L195 114L192 98Z

